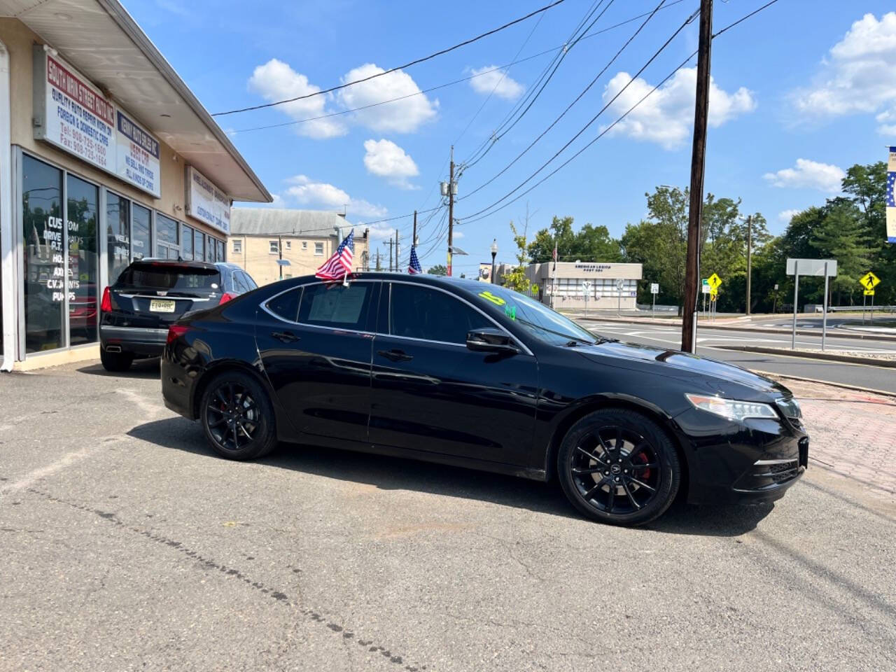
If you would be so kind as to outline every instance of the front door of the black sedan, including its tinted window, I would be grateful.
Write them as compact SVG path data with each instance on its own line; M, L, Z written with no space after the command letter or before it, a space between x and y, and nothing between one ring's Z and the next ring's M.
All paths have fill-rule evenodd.
M416 282L383 283L374 340L370 441L414 451L529 465L538 363L528 352L466 347L496 324L478 308Z

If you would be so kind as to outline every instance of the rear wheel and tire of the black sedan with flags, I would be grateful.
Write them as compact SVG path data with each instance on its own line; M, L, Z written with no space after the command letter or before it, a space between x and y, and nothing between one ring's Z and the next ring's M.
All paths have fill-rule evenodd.
M224 371L202 392L199 418L211 450L228 460L255 460L277 447L271 398L242 371Z

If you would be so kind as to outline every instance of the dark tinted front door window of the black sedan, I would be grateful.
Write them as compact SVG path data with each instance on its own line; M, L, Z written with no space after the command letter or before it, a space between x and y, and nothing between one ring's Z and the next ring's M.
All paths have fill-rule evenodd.
M495 326L477 310L437 289L392 283L389 332L411 339L465 344L467 332Z

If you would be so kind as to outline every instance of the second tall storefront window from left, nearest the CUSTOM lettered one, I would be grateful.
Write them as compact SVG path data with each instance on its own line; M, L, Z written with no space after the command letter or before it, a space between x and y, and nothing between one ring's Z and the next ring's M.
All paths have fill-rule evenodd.
M97 340L99 187L68 176L68 332L70 345Z

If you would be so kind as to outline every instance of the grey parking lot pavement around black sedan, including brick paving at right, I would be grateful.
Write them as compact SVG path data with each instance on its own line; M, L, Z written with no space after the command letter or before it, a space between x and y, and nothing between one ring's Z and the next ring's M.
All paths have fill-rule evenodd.
M0 378L0 669L896 668L892 399L806 389L783 500L625 530L518 478L223 461L158 375Z

